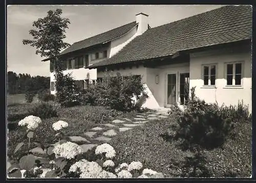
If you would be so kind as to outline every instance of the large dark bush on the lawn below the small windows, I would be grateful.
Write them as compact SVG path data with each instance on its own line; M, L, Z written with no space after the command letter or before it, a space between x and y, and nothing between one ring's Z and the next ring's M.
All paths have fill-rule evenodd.
M191 90L194 95L194 92ZM178 119L175 139L182 140L182 147L194 149L221 146L231 129L231 120L224 119L216 104L208 104L196 96L191 98L184 114Z

